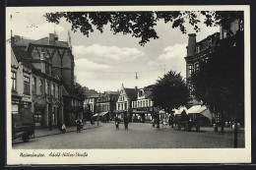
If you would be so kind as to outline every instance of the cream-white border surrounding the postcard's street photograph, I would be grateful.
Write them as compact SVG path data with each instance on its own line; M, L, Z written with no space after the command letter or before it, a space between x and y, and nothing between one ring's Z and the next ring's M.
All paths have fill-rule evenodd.
M170 148L170 149L58 149L86 151L86 158L20 157L20 152L49 154L48 149L12 149L11 114L7 115L7 164L126 164L126 163L250 163L251 162L251 84L250 84L250 8L245 5L223 6L91 6L91 7L7 7L6 17L15 12L45 13L56 11L244 11L245 32L245 148ZM10 34L6 20L6 34ZM6 55L11 56L10 44ZM11 58L6 58L7 113L11 113Z

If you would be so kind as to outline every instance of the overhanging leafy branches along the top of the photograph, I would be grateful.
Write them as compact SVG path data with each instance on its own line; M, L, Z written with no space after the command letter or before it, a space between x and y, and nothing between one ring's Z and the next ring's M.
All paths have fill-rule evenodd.
M172 23L171 28L179 28L182 33L186 33L184 24L188 22L196 31L200 28L201 22L199 16L205 17L204 24L207 27L223 26L227 28L230 24L239 19L243 21L242 11L169 11L169 12L57 12L46 13L44 17L50 23L59 24L61 18L65 18L71 24L71 29L80 31L89 36L94 32L94 27L103 32L104 26L110 24L110 30L114 34L123 32L123 34L132 34L132 36L141 38L139 42L145 45L151 38L159 38L155 26L157 22L163 20L164 23Z

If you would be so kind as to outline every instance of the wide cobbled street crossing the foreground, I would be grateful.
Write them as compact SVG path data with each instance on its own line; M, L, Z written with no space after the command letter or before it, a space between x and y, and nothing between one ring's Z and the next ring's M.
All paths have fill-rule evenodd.
M54 136L34 138L30 142L15 142L17 149L56 148L226 148L233 147L233 132L224 133L213 128L201 128L200 132L175 131L169 126L160 129L152 124L130 123L129 130L116 130L114 123L100 123L100 127ZM220 131L220 128L219 128ZM244 147L244 131L238 131L238 147Z

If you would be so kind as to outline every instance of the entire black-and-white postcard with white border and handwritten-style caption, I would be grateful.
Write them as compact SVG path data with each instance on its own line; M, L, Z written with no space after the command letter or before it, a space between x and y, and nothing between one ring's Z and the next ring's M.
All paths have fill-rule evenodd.
M7 7L7 163L249 163L249 13Z

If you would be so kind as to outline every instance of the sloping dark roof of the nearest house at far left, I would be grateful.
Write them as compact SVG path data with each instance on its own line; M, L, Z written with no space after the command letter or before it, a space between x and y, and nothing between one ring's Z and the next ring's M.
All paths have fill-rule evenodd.
M17 46L12 46L12 49L18 62L22 62L23 64L33 68L29 61L30 55L27 51Z

